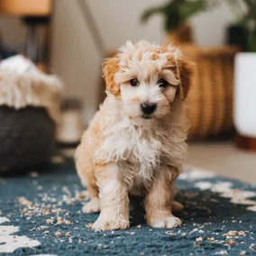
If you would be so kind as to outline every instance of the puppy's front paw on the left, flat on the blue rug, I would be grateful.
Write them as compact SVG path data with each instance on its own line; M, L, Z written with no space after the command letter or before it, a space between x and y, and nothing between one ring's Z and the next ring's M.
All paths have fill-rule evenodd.
M113 216L101 216L97 218L92 228L96 231L127 229L130 227L129 220L113 218Z

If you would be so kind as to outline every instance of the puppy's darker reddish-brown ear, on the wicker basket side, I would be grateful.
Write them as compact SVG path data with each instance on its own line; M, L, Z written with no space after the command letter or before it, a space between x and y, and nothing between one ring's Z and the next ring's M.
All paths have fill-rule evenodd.
M186 99L190 88L193 86L196 63L187 59L179 59L178 67L180 78L180 95L182 99Z

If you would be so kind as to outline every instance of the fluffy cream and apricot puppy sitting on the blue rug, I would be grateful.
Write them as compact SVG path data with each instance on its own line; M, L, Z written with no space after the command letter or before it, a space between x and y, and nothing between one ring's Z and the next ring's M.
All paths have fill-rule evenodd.
M143 195L147 223L172 228L182 207L174 180L187 151L186 97L194 65L171 46L128 41L103 65L107 97L76 153L78 175L100 212L96 230L129 227L128 195Z

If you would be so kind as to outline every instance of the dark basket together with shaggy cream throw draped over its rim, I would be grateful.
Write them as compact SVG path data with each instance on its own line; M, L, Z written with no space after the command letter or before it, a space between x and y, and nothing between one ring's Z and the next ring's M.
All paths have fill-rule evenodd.
M61 91L54 76L0 69L0 175L50 163Z

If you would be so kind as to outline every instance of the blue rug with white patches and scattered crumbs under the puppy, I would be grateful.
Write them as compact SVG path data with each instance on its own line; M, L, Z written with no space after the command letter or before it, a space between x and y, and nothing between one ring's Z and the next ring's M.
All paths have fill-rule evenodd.
M182 227L151 228L138 208L129 230L96 233L72 160L0 178L0 255L256 255L256 187L189 169L178 188Z

